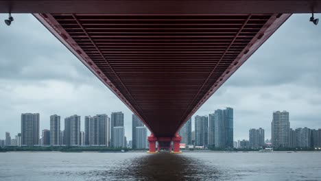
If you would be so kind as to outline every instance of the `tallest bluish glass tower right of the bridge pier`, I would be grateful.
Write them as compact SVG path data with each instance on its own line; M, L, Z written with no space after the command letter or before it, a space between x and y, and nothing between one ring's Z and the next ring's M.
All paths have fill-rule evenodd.
M215 147L233 147L233 108L214 112Z

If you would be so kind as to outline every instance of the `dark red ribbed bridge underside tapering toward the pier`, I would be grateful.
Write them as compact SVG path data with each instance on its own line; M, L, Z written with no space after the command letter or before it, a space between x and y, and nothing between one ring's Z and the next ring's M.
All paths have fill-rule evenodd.
M174 136L289 14L35 14L139 115Z

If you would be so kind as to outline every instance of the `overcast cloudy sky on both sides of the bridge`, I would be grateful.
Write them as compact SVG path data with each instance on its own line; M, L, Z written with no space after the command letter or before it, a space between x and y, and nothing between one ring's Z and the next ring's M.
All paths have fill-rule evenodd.
M39 112L41 130L51 114L78 114L83 130L85 115L123 111L130 140L132 112L34 16L12 15L8 27L0 14L0 138L20 132L22 112ZM234 108L235 140L259 127L270 138L275 110L292 128L321 128L321 25L310 16L293 15L196 114Z

